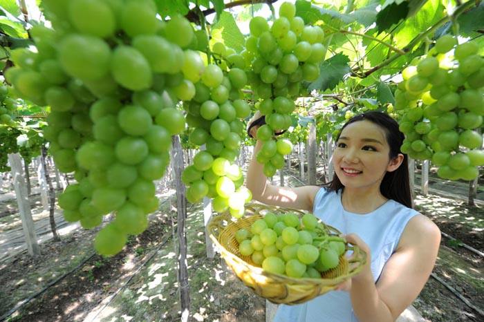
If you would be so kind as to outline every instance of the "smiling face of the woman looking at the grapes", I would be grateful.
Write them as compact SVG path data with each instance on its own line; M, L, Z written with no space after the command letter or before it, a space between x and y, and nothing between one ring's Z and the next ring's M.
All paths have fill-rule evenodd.
M401 154L390 160L389 152L390 146L380 126L368 120L348 124L333 152L336 176L346 188L379 189L385 173L401 164Z

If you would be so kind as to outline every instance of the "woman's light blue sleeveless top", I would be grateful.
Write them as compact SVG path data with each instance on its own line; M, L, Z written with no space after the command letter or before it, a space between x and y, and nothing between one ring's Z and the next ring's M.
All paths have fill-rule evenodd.
M319 189L313 214L341 231L357 234L371 249L371 272L376 281L385 263L395 252L400 236L409 220L418 211L388 200L368 214L355 214L344 210L341 190ZM357 322L349 293L332 291L299 305L279 305L274 322Z

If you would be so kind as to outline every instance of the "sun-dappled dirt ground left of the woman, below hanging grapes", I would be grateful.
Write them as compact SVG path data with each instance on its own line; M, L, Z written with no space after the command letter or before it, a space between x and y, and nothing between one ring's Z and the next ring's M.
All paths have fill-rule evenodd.
M0 266L0 316L80 266L7 321L179 321L171 218L176 211L167 200L151 215L147 231L111 258L94 254L98 229L42 244L41 258L16 256ZM187 221L190 321L265 321L265 301L228 272L218 254L206 258L201 231L203 209L195 207Z

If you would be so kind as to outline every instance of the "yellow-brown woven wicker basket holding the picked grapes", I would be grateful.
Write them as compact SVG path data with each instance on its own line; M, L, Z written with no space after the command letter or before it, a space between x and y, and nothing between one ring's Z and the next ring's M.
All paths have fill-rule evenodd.
M318 278L292 278L286 275L265 272L261 267L255 266L250 256L239 253L239 243L235 233L241 228L250 230L252 222L263 218L263 214L271 211L277 214L283 212L297 213L300 216L304 211L281 207L269 207L261 204L250 204L245 207L245 216L235 220L228 212L214 216L207 225L210 238L214 241L225 263L232 268L236 276L255 294L268 299L272 303L299 304L309 301L316 296L334 290L337 285L358 274L366 263L366 254L360 252L357 246L346 245L346 249L353 250L354 256L347 260L344 256L339 258L339 265L324 272ZM339 235L334 227L328 226L331 235Z

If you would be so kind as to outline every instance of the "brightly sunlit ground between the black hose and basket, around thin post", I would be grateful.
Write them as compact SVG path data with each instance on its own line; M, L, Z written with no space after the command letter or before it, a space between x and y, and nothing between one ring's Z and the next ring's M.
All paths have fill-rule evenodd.
M244 307L244 311L252 316L246 321L264 321L263 301L243 287L231 272L227 272L218 256L215 259L206 258L203 225L203 209L198 205L189 211L186 222L191 301L189 315L196 321L230 321L227 316L230 312L225 311L229 311L230 307ZM176 252L171 239L109 305L98 307L85 319L179 321L181 311ZM227 301L232 304L225 305Z

